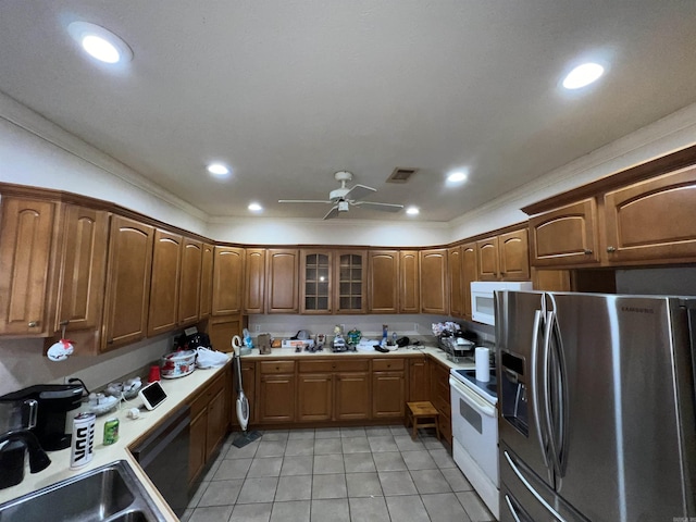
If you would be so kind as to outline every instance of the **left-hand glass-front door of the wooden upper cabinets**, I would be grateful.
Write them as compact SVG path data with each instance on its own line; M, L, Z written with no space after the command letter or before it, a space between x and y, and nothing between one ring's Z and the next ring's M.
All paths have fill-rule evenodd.
M302 250L301 313L332 313L332 252Z

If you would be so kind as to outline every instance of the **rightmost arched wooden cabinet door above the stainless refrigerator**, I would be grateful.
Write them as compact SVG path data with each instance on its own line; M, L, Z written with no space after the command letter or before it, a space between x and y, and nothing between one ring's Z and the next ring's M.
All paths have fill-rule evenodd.
M604 195L609 264L696 259L696 165Z

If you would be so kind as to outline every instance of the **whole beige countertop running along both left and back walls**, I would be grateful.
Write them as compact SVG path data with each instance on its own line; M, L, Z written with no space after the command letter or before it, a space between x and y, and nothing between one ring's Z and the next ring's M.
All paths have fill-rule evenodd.
M319 357L331 358L352 358L352 357L371 357L371 358L386 358L386 357L415 357L419 355L426 355L434 360L447 365L448 368L457 369L473 369L473 362L455 363L447 359L447 355L439 348L434 347L409 347L397 348L389 347L388 353L382 353L376 350L371 351L357 351L357 352L339 352L334 353L331 350L324 350L320 352L302 351L297 353L294 348L273 348L270 355L260 355L258 348L254 348L251 353L243 356L243 360L259 360L264 359L307 359ZM60 451L49 451L49 458L51 459L51 465L46 470L32 474L26 470L24 481L16 486L12 486L5 489L0 489L0 504L8 500L21 497L27 493L35 492L46 486L50 486L65 478L76 476L85 471L99 468L100 465L114 462L116 460L125 460L128 462L135 474L140 478L145 485L147 492L152 497L154 504L164 513L167 519L172 521L178 520L174 512L166 505L164 499L160 496L157 488L149 481L145 472L137 464L128 447L133 446L139 438L147 434L150 430L156 427L160 421L164 420L170 413L175 411L187 398L197 389L206 385L217 372L222 369L213 370L196 370L190 375L181 378L162 380L161 384L166 391L167 398L161 406L152 411L148 411L145 408L140 410L139 419L133 420L127 417L127 412L130 408L141 407L141 400L137 397L126 402L122 402L119 409L111 411L105 415L97 418L96 426L96 439L95 439L95 453L91 462L77 470L70 469L70 448ZM104 446L103 443L103 426L108 419L116 418L120 421L119 425L119 440L110 446Z

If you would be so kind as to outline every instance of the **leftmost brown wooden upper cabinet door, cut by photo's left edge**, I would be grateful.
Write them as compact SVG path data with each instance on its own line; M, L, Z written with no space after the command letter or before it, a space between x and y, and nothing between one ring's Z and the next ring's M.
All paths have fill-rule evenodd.
M57 203L2 197L0 334L46 335Z

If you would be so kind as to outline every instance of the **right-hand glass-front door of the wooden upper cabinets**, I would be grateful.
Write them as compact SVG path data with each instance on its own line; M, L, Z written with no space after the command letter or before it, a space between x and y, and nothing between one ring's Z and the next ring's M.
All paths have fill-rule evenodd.
M335 294L334 313L364 313L366 304L366 263L364 250L334 252Z

